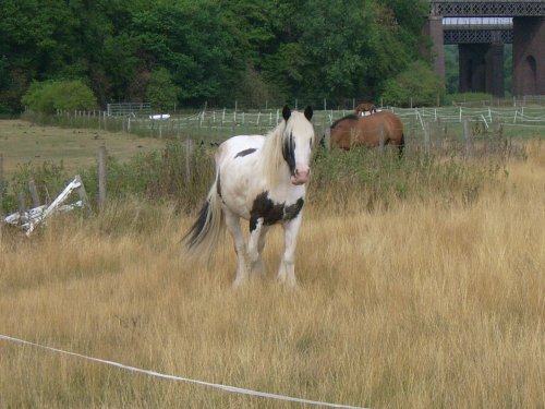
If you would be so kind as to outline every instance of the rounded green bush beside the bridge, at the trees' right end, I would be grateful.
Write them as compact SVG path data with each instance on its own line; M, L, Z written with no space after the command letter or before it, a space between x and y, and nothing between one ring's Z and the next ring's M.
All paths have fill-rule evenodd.
M416 61L386 82L383 98L397 107L434 106L444 95L443 81L423 61Z

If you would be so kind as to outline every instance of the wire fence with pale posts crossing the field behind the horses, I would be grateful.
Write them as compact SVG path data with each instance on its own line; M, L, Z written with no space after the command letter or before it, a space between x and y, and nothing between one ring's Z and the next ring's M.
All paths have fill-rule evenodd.
M429 151L434 146L428 141L439 139L450 142L450 145L456 141L467 144L469 139L477 141L480 137L491 142L505 134L507 129L545 132L545 106L540 105L383 109L401 118L409 148L423 145ZM313 123L316 134L324 136L336 120L353 112L348 109L315 110ZM124 131L158 139L191 139L209 145L217 145L233 135L266 134L281 120L280 109L240 111L227 108L172 116L108 116L102 111L59 111L56 116L58 124L66 127ZM464 131L468 127L469 134Z

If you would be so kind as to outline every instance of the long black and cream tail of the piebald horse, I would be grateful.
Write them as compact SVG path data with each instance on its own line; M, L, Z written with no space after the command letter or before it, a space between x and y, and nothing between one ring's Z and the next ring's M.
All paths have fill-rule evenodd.
M225 230L218 183L219 173L216 175L216 180L208 191L206 202L201 208L197 219L184 237L190 256L201 260L211 257Z

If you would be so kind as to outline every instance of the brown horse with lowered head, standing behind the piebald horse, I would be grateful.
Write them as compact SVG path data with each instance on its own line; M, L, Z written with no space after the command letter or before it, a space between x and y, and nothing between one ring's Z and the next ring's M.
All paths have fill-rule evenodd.
M399 157L403 155L403 124L399 117L390 111L378 111L366 117L352 113L335 121L331 125L331 146L343 149L353 146L379 146L380 135L385 145L396 146Z

